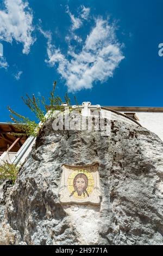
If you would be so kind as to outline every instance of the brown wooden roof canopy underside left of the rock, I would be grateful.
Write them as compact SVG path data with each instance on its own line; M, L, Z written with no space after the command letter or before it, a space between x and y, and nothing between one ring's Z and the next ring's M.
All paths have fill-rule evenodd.
M22 135L15 124L0 123L0 156L4 151L17 152L26 140L27 136Z

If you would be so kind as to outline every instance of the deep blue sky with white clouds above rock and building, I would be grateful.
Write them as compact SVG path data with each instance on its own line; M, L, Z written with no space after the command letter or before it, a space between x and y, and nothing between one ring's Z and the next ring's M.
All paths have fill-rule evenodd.
M0 0L0 121L10 121L8 105L30 116L21 96L48 97L54 80L80 104L163 106L162 9L162 0Z

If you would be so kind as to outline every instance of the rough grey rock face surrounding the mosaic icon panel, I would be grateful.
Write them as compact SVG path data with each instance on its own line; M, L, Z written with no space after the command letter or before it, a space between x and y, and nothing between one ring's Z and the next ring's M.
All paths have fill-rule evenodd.
M60 204L61 165L94 162L101 204ZM163 143L145 128L112 121L107 137L98 131L54 132L49 121L10 192L0 243L163 244L162 177Z

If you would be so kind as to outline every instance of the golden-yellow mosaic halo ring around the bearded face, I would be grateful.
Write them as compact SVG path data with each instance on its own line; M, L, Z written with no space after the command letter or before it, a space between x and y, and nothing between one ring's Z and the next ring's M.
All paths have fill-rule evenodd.
M87 176L88 186L86 188L86 191L90 195L94 188L95 181L94 181L94 178L93 178L91 172L89 172L85 169L78 169L78 170L72 171L72 173L70 174L70 176L67 179L68 192L71 195L71 193L74 191L73 180L74 180L74 177L76 177L78 174L85 174ZM85 199L85 198L87 198L87 194L85 193L85 197L84 197L84 194L79 196L77 192L74 192L73 197L75 197L77 199Z

